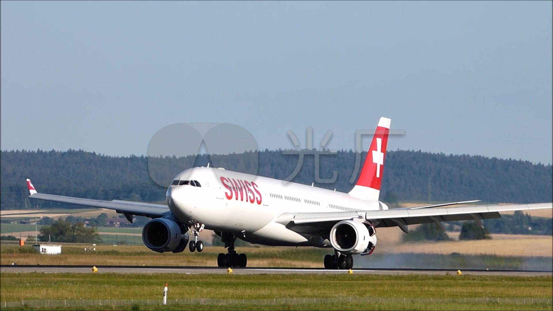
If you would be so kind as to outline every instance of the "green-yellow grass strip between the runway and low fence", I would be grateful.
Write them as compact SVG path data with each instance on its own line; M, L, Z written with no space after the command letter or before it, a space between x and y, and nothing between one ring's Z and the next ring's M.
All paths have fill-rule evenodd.
M168 305L148 306L149 310L178 309L378 309L378 310L547 310L551 304L534 303L516 305L499 302L470 302L471 299L520 298L551 299L552 278L548 277L503 277L471 276L463 274L429 276L367 275L367 274L79 274L79 273L2 273L0 302L29 299L153 299L161 300L161 291L169 283L170 299L244 299L244 304L232 305ZM340 303L338 299L349 297L382 299L383 303ZM248 305L249 299L288 299L280 305ZM335 298L336 303L293 304L293 298ZM401 299L415 299L402 302ZM432 298L437 302L417 302L417 299ZM395 300L392 300L395 299ZM440 299L468 299L468 304L444 302ZM390 301L391 300L391 301ZM505 299L504 299L505 300ZM316 301L316 300L315 300ZM407 300L405 300L407 301ZM499 299L499 301L501 301ZM518 308L515 308L518 307ZM145 307L142 307L145 309ZM28 308L25 308L28 309ZM56 308L63 310L64 308ZM75 307L66 308L75 310ZM98 307L79 309L97 310ZM102 310L112 310L107 305ZM119 306L118 310L131 309ZM135 307L134 309L137 309ZM140 309L140 306L138 306Z

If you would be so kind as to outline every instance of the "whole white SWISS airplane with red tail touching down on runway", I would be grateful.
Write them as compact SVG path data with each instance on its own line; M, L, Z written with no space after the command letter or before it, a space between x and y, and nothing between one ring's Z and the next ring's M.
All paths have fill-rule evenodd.
M326 269L353 268L352 255L370 255L377 245L377 228L500 218L500 211L551 209L552 203L473 205L479 200L394 208L379 200L390 129L381 117L361 173L348 193L299 183L233 172L224 168L194 167L177 174L166 191L166 205L122 200L93 200L38 193L27 179L29 198L116 210L129 221L133 215L152 218L142 230L144 245L156 252L201 252L198 234L213 230L226 253L218 267L246 267L247 256L234 248L236 239L270 246L333 248L324 257ZM446 207L447 206L447 207ZM190 240L188 232L194 236ZM190 240L190 241L189 241Z

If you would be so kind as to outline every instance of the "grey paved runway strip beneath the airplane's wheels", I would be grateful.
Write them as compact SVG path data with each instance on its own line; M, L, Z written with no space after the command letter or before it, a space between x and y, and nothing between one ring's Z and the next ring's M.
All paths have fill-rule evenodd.
M227 268L221 267L191 267L191 266L96 266L96 273L183 273L183 274L226 274ZM395 269L395 268L353 268L353 274L456 274L456 269ZM92 266L60 266L60 265L1 265L0 273L9 272L41 272L41 273L92 273ZM551 276L551 271L519 271L519 270L482 270L463 269L463 275L479 276ZM347 270L327 270L324 268L232 268L232 274L347 274Z

